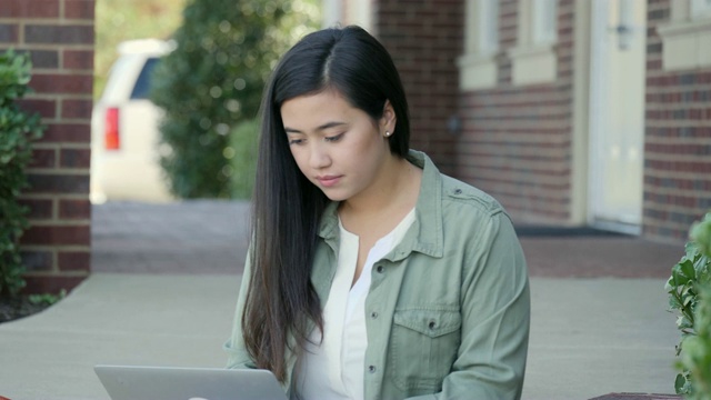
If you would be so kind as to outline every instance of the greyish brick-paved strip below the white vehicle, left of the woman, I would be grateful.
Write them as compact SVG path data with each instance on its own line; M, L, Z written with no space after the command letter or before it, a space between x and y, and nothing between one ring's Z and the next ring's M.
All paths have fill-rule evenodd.
M93 272L242 273L249 203L94 206Z

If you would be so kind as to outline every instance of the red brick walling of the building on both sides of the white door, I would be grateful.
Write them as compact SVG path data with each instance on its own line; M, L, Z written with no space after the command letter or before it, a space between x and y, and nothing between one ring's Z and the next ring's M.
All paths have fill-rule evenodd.
M401 71L412 113L412 147L442 170L499 199L520 223L572 221L573 0L558 1L557 79L513 86L521 0L501 0L498 84L458 93L463 1L374 2L375 33ZM673 1L673 0L671 0ZM642 236L680 242L711 210L711 69L662 70L657 26L670 0L649 0ZM460 136L447 120L462 119Z

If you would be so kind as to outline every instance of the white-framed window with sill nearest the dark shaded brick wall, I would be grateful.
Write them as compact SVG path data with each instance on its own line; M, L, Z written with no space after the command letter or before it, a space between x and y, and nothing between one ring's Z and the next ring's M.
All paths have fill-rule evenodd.
M464 54L459 58L459 87L481 90L497 84L499 52L499 1L467 0Z

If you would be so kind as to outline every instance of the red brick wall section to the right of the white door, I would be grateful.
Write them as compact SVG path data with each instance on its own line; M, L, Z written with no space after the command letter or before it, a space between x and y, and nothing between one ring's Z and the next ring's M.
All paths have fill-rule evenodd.
M648 7L643 234L683 241L711 211L711 68L662 69L669 1Z

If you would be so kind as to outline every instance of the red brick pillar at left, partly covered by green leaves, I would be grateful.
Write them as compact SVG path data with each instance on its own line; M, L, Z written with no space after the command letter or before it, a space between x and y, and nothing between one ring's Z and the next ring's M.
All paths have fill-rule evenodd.
M48 127L28 171L28 291L71 289L90 270L90 118L94 0L0 0L0 49L29 51L34 93L22 107Z

